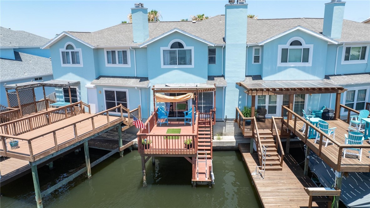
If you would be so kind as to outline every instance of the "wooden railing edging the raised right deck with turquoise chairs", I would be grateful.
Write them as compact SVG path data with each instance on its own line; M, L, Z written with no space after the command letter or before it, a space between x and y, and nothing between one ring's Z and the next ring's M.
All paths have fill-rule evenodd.
M314 131L316 131L317 133L320 134L319 148L318 148L317 151L313 150L317 155L321 156L322 146L323 146L322 145L323 144L323 138L326 138L327 140L332 142L333 145L336 145L338 147L338 152L337 152L338 161L337 161L337 169L336 169L338 171L340 170L340 166L342 164L343 148L363 148L363 149L368 149L368 151L370 150L370 145L369 144L361 144L361 145L340 144L337 140L334 140L332 137L330 137L329 135L327 135L326 133L321 131L319 128L317 128L315 125L311 124L309 121L306 121L305 118L300 117L300 115L296 114L294 111L290 110L289 108L287 108L285 106L283 106L283 108L285 108L288 111L288 117L287 117L287 121L286 121L287 126L289 126L289 120L290 120L289 115L294 116L294 118L292 118L292 120L294 122L293 123L293 131L292 131L293 134L296 134L296 132L300 129L300 127L297 127L297 121L302 121L303 123L306 124L305 130L302 132L302 134L305 135L305 137L302 139L302 141L305 144L307 143L307 140L308 140L309 128L313 128ZM353 110L353 109L351 109L351 111L355 112L355 110ZM363 152L367 152L367 151L363 151ZM335 153L333 152L333 154L335 154Z

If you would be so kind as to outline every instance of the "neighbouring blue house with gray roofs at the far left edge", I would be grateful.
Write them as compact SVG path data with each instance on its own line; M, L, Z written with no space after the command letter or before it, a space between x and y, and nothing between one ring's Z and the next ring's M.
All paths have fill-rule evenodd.
M8 106L4 84L53 79L50 50L40 47L50 41L26 31L0 27L0 104ZM46 94L53 93L46 88ZM44 98L42 88L35 88L36 99Z

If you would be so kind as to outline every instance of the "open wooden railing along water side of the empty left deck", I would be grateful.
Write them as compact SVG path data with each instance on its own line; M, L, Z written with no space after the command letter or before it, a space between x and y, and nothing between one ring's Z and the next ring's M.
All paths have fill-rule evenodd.
M71 104L72 105L72 104ZM101 111L100 113L97 113L97 114L92 114L90 116L88 116L87 118L84 118L83 120L78 120L74 123L70 123L70 124L65 124L65 125L60 125L58 126L58 128L53 128L53 129L50 129L46 132L44 132L43 134L37 134L36 136L34 137L30 137L30 138L24 138L22 137L22 135L9 135L9 134L0 134L0 140L1 140L1 143L3 145L3 150L0 150L0 153L2 156L5 156L5 157L13 157L13 158L18 158L18 159L21 159L21 160L24 160L25 157L28 159L28 161L30 162L34 162L40 158L43 158L47 155L50 155L50 154L53 154L54 152L58 151L58 150L61 150L65 147L68 147L78 141L81 141L83 140L84 138L87 138L91 135L94 135L96 134L97 132L100 132L104 129L106 129L107 127L111 127L117 123L120 123L122 122L122 117L115 117L114 120L111 120L110 121L110 116L109 116L109 112L110 111L114 111L114 110L120 110L120 112L122 112L122 110L124 110L124 108L122 107L122 105L118 105L116 107L113 107L113 108L110 108L108 110L105 110L105 111ZM107 123L106 124L97 124L95 125L95 121L94 119L96 120L97 116L99 115L104 115L107 117ZM78 128L77 128L77 124L78 123L81 123L83 121L87 121L87 120L90 120L91 121L91 127L89 129L91 129L91 131L88 131L88 132L85 132L84 134L81 134L79 135L78 134ZM62 130L64 128L68 128L68 127L72 127L73 129L73 132L74 132L74 137L73 138L70 138L68 141L65 141L65 142L58 142L58 134L59 134L59 130ZM81 128L85 128L84 127L81 127ZM33 129L31 128L30 131L32 131ZM65 134L65 132L63 132ZM40 140L43 139L43 137L47 136L47 135L53 135L53 138L54 138L54 147L52 148L49 148L48 150L46 151L43 151L43 152L39 152L39 153L36 153L34 154L34 149L32 147L32 143L34 140L38 139L37 142L40 142ZM61 136L61 138L63 138L65 140L65 135ZM28 155L27 154L24 154L24 153L17 153L15 151L11 151L9 152L7 150L8 146L6 145L6 140L8 139L15 139L15 140L21 140L21 141L26 141L27 144L28 144L28 149L29 149L29 153Z

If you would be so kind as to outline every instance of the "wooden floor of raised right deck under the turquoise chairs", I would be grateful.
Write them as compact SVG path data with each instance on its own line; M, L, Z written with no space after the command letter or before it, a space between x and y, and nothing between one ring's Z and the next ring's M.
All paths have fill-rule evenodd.
M335 130L335 141L339 144L345 144L344 143L344 134L348 134L348 127L349 124L342 120L333 120L333 121L327 121L329 123L329 128L337 127ZM291 130L297 137L299 137L303 142L306 143L306 145L317 155L320 156L320 158L323 159L323 161L328 164L330 167L332 167L334 170L337 170L338 168L338 157L339 155L339 147L336 144L328 143L327 147L325 147L325 143L323 142L321 147L321 154L319 153L319 142L316 144L314 143L315 139L307 139L306 140L306 134L305 132L300 131L300 129L303 126L303 122L297 120L296 121L296 128L294 128L294 120L289 120L289 125L286 124L286 120L284 120L284 125L286 125L289 130ZM369 144L369 140L365 140L364 144ZM341 157L340 160L340 167L337 171L342 172L370 172L370 158L369 154L367 152L370 151L370 148L363 148L362 151L362 158L361 161L357 156L354 155L346 155L346 158Z

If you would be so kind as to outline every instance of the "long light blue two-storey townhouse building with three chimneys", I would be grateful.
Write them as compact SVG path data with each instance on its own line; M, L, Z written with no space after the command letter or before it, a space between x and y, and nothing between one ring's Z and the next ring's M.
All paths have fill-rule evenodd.
M89 103L93 113L141 105L148 118L153 86L213 85L216 96L202 93L199 110L216 107L216 120L224 121L235 118L236 106L252 102L236 83L282 80L342 86L348 90L341 103L360 110L370 101L370 25L343 20L344 5L323 4L324 18L250 19L248 4L226 4L225 15L203 21L148 23L148 11L139 4L131 10L132 23L64 31L43 48L50 49L54 79L81 81L75 98ZM57 97L66 97L63 89ZM281 116L287 99L258 95L255 105L266 108L267 117ZM296 94L294 111L334 108L334 102L335 94ZM191 104L173 105L171 117L181 118Z

